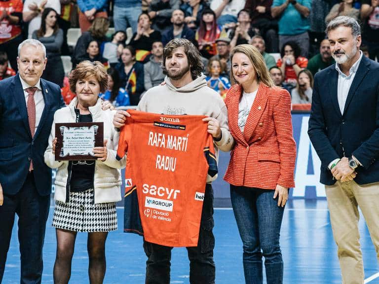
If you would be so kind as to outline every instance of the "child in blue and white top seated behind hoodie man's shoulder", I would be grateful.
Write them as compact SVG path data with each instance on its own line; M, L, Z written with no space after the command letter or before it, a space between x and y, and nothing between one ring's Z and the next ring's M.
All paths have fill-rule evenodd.
M227 78L220 76L226 69L226 64L220 59L212 57L208 61L208 74L206 77L208 86L218 92L223 99L227 96L227 91L230 88L230 82Z

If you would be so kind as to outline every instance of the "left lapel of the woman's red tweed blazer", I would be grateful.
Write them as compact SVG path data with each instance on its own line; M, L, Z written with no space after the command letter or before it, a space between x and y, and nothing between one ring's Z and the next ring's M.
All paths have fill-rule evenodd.
M245 138L243 137L243 134L241 132L241 129L238 126L238 111L239 111L239 99L241 97L242 88L240 85L234 85L229 90L227 98L228 104L227 104L227 112L229 116L229 129L230 132L233 134L234 139L236 139L238 142L240 142L243 145L247 146L247 142Z

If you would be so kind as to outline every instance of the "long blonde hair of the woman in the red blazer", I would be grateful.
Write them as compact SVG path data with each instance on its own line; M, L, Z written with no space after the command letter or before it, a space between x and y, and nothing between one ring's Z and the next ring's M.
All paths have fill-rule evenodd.
M272 81L270 73L267 70L265 60L263 59L261 52L256 47L250 44L240 44L235 46L230 52L231 64L233 64L232 59L236 53L243 53L249 58L255 72L257 73L258 83L262 82L268 87L274 86L274 82ZM233 76L233 68L230 68L230 82L231 84L238 84Z

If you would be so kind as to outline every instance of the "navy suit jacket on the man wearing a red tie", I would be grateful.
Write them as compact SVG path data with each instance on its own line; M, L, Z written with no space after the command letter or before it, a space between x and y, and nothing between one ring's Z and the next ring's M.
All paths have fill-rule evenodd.
M19 74L0 81L0 183L4 193L14 195L22 187L33 159L40 195L51 193L51 169L43 160L54 112L65 106L57 84L40 79L45 107L32 139L25 95Z

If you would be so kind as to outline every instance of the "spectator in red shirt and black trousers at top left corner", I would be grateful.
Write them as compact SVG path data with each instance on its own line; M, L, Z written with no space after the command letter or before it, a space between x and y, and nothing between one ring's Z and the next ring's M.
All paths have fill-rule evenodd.
M0 0L0 51L6 52L11 67L17 71L17 47L22 41L22 0Z

